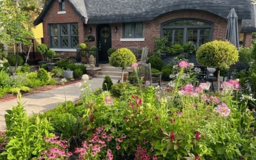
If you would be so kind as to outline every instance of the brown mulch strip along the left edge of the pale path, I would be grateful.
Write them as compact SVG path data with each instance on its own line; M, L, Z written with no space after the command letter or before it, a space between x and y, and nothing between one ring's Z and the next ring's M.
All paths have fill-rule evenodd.
M68 81L68 83L66 83L65 85L77 83L77 82L80 82L80 81L81 81L81 79L75 79L74 82ZM31 95L31 94L40 93L40 92L44 92L44 91L48 91L48 90L58 88L58 87L62 87L62 86L63 85L60 84L60 83L53 84L53 85L38 86L36 88L31 88L30 92L27 92L27 93L22 93L21 92L21 95L22 95L22 97L24 97L24 96L28 96L28 95ZM8 100L13 100L13 99L16 99L16 98L17 98L17 95L7 93L2 98L0 98L0 103L8 101Z

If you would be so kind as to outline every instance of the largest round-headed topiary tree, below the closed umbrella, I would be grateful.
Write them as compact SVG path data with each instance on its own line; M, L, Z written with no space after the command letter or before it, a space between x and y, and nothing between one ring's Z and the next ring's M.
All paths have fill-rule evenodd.
M216 40L202 45L196 53L196 58L200 65L218 70L218 91L220 91L220 69L235 64L238 61L238 51L230 42Z

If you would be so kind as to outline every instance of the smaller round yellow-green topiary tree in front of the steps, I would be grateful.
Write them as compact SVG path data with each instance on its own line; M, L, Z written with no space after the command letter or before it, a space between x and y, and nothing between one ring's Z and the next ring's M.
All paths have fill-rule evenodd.
M127 48L118 49L116 52L112 53L111 58L109 60L109 64L116 68L121 68L123 71L122 74L122 83L124 77L124 69L128 66L131 66L132 63L135 63L136 57L132 53L132 51L128 50Z

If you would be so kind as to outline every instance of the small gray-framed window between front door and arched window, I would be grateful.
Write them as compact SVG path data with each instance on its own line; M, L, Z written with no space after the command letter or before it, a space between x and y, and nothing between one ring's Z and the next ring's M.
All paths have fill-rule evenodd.
M142 38L143 24L142 22L124 23L124 38Z

